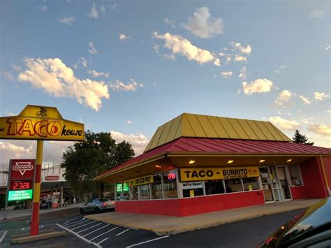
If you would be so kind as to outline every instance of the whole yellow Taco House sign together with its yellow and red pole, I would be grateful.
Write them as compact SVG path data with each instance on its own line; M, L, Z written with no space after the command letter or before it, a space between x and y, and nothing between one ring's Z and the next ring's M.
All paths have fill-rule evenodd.
M37 140L30 235L38 235L43 140L84 140L84 124L63 119L57 108L27 105L20 115L0 117L0 139Z

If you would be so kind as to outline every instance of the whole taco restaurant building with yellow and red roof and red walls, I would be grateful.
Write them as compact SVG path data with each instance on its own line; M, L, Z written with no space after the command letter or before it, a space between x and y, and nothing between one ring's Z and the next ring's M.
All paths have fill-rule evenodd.
M184 113L95 180L115 184L117 212L181 217L324 198L331 149L291 143L270 122Z

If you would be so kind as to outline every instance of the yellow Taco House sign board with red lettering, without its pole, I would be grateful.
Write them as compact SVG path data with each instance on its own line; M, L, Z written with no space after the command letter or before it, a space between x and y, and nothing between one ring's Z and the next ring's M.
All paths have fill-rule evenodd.
M57 108L27 105L20 115L0 117L0 139L84 140L84 124L63 119Z

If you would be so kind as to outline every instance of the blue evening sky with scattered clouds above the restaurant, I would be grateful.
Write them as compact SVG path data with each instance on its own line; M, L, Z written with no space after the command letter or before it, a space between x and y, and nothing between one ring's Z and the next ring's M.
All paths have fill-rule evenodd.
M57 107L139 154L182 112L331 147L329 1L1 1L0 115ZM70 143L47 143L61 161ZM56 152L54 152L56 151ZM31 141L0 140L5 163Z

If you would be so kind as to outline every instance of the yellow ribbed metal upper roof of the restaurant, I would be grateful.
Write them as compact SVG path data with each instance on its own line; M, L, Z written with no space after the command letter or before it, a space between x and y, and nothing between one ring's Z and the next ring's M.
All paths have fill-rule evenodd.
M183 113L159 126L145 152L180 137L290 141L270 122Z

